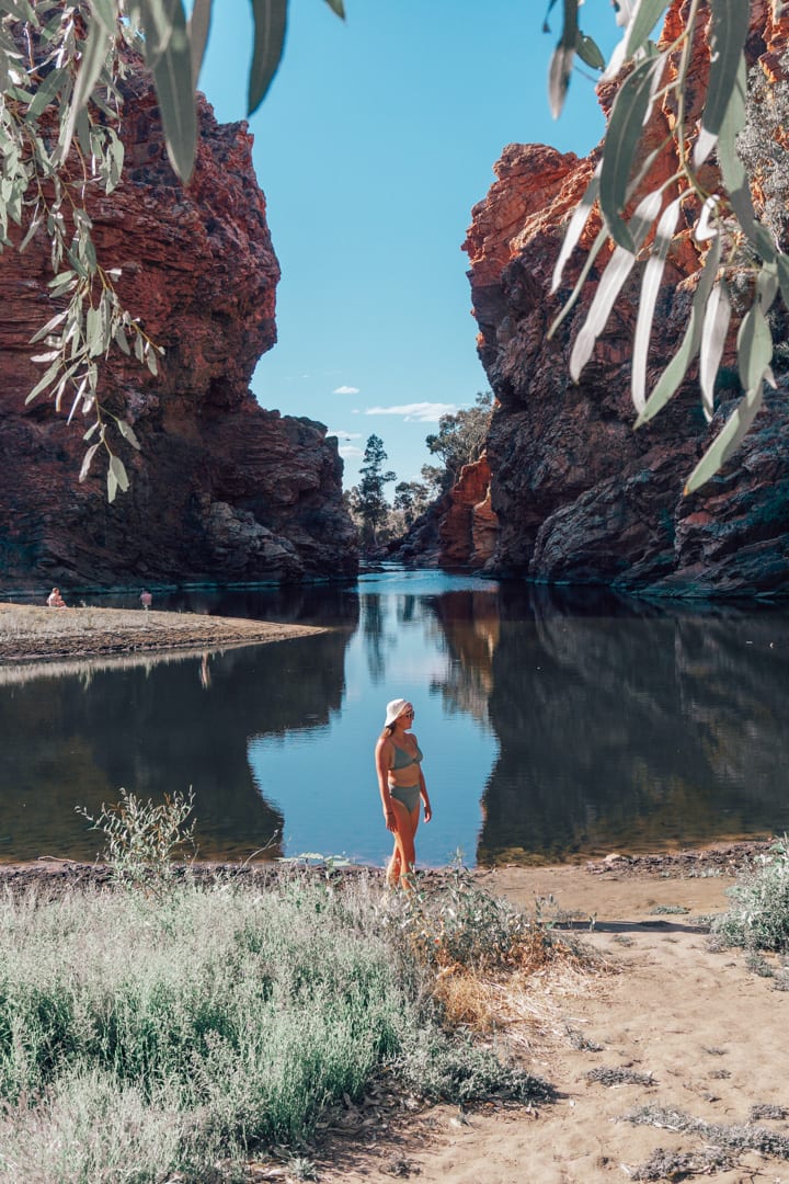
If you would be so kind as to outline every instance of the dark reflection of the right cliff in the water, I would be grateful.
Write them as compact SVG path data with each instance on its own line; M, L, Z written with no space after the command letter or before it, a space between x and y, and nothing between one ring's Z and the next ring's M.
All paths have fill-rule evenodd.
M784 613L574 603L513 586L498 607L489 709L500 752L480 863L687 847L789 824Z

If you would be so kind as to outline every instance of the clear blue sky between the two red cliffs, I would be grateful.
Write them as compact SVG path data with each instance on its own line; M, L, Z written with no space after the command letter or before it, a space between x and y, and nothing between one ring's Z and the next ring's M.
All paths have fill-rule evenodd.
M233 122L246 112L251 5L213 7L199 86ZM550 115L561 5L550 34L547 7L345 0L342 21L325 0L290 0L283 62L250 120L283 274L278 343L252 388L264 407L337 436L345 488L373 433L399 481L420 480L439 417L487 390L460 246L504 146L583 155L602 136L587 67L561 118ZM608 57L619 39L609 0L588 0L581 27Z

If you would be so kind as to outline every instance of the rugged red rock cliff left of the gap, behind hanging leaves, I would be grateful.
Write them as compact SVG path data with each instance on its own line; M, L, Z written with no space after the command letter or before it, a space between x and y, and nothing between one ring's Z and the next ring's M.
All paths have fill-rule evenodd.
M90 211L99 262L166 348L159 379L114 355L99 393L128 414L140 453L115 445L131 488L109 504L105 465L77 476L84 424L50 404L25 406L41 368L30 337L53 309L48 247L0 256L0 581L65 590L354 574L355 530L342 462L325 427L264 411L250 391L276 342L279 265L242 123L219 126L205 101L194 178L167 162L150 91L129 88L125 172ZM125 412L124 412L125 408ZM78 418L78 417L77 417ZM104 471L102 471L104 470Z

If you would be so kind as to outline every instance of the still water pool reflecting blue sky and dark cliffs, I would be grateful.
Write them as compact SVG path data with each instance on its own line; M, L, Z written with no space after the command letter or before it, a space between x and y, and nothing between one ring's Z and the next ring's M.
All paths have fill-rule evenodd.
M95 603L136 607L136 598ZM92 858L75 807L195 794L205 858L383 863L373 748L414 703L422 864L561 862L789 829L789 612L387 570L159 597L329 626L224 654L0 668L0 860ZM260 855L258 855L260 857Z

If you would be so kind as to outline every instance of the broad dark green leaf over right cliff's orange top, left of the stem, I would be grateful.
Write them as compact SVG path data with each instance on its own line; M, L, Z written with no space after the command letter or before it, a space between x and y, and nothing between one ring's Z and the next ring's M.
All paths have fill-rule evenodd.
M612 108L600 169L600 208L608 233L626 251L633 251L633 236L622 220L627 200L627 182L641 139L641 130L652 103L665 58L641 62L620 86Z

